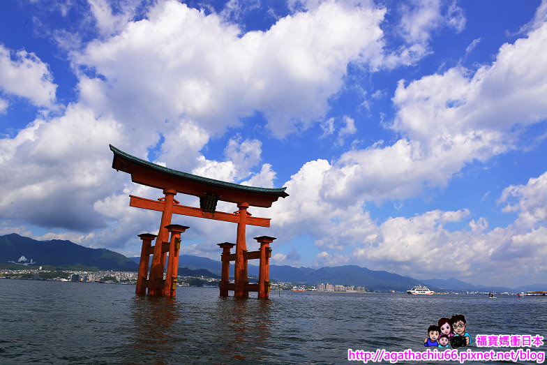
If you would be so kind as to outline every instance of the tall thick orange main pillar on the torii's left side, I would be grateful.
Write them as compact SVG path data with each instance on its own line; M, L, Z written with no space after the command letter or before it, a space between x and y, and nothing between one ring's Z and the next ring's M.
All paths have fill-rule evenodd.
M163 295L163 269L165 269L165 258L162 252L163 241L169 239L169 232L165 226L171 224L171 216L173 215L173 200L177 191L173 189L164 189L165 204L163 206L163 213L161 214L160 230L158 232L158 238L156 238L156 244L154 245L154 252L152 256L152 267L150 269L150 278L148 281L148 294L149 295Z

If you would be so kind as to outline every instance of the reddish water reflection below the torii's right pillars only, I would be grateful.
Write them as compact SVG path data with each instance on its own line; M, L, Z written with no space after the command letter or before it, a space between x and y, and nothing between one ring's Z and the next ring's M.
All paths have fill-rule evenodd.
M264 362L271 343L270 308L269 300L219 297L213 315L219 355L234 362Z

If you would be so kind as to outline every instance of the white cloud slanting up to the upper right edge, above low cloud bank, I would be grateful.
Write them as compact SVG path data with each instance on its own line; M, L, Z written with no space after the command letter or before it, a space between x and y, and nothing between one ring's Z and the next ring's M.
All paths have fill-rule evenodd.
M325 173L324 198L408 198L424 186L445 186L466 163L518 148L518 133L547 118L546 41L544 24L503 45L495 62L475 73L458 66L400 81L391 128L403 137L340 156Z

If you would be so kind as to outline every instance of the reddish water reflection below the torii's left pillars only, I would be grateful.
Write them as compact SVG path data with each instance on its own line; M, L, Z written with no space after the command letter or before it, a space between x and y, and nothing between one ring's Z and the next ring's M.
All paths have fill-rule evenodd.
M165 363L180 345L177 322L181 303L172 297L135 295L130 302L132 328L126 346L128 360Z

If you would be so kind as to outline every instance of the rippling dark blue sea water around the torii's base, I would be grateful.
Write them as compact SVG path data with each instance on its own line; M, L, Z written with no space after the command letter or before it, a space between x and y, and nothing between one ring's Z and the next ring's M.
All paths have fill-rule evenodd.
M348 349L425 351L428 326L452 314L465 315L473 338L547 343L546 298L274 291L259 300L211 288L165 298L135 295L134 285L8 279L0 292L0 364L362 364L348 362Z

